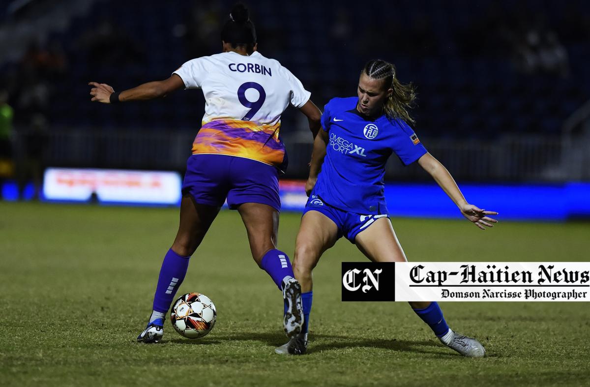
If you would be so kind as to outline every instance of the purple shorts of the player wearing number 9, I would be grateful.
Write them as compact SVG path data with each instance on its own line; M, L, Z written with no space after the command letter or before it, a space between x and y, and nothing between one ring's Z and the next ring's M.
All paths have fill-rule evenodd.
M281 210L278 170L256 160L226 155L192 155L186 162L182 195L198 204L230 209L243 203L267 204Z

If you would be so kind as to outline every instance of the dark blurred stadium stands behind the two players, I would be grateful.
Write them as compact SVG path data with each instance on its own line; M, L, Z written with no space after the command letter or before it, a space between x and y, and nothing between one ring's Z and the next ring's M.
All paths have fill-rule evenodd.
M0 90L14 109L15 159L182 171L204 111L199 91L98 106L86 84L123 90L218 53L231 4L31 0L0 7ZM320 107L354 95L369 58L394 63L400 80L418 88L420 139L458 181L590 179L586 2L263 0L251 8L261 53L290 68ZM306 176L306 126L294 109L284 114L287 178ZM31 179L26 169L16 169L21 181ZM387 177L430 179L394 158Z

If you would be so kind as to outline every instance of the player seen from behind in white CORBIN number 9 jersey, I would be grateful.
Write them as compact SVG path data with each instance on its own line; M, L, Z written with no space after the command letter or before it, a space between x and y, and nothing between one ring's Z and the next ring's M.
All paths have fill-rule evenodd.
M205 96L205 116L182 185L178 234L164 257L153 311L139 342L162 339L165 315L189 258L226 199L241 215L254 260L283 291L287 336L296 336L303 324L300 284L289 257L276 248L278 172L287 160L278 131L281 114L292 105L307 116L315 137L321 112L287 68L258 53L254 24L244 5L232 8L221 39L221 54L190 60L166 80L120 93L107 84L90 83L91 100L102 103L155 99L179 88L201 88Z

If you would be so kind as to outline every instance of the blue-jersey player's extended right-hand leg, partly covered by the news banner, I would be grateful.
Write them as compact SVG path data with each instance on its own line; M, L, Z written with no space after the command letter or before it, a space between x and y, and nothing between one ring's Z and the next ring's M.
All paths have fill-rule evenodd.
M373 262L407 261L388 218L377 219L369 228L356 235L355 242L359 250ZM438 332L437 337L445 346L468 358L481 358L486 354L486 349L476 339L448 329L437 303L412 301L409 304L435 334ZM443 323L444 326L441 326Z

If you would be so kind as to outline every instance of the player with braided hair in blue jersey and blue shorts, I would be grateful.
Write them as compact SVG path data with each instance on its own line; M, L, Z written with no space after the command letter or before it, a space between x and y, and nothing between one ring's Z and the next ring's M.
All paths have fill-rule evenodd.
M301 355L307 350L312 309L312 270L323 252L344 236L375 262L404 262L406 257L388 219L383 176L385 162L395 154L405 165L418 161L477 227L497 221L468 204L447 169L427 152L408 123L415 99L411 84L399 83L395 67L369 61L360 73L358 97L327 103L316 136L306 193L309 195L297 235L293 271L301 284L304 323L277 353ZM321 169L321 171L320 171ZM476 339L451 330L435 302L411 302L415 313L441 342L464 356L478 358L486 350Z

